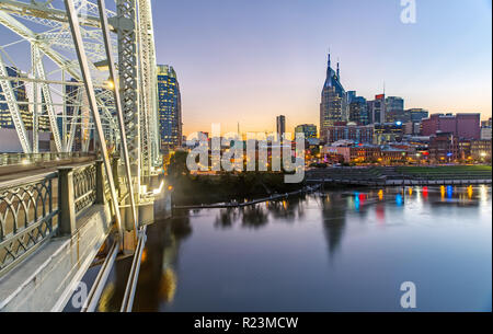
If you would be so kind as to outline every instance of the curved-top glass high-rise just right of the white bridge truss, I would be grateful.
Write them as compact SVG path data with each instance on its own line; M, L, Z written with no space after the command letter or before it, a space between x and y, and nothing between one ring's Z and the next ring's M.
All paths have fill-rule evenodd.
M158 114L161 150L182 146L182 101L173 67L158 65Z

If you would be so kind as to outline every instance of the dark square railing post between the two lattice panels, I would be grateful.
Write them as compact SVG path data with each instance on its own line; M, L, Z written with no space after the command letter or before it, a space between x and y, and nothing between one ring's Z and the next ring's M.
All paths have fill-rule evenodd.
M73 193L73 168L58 169L58 233L72 235L76 231L76 200Z

